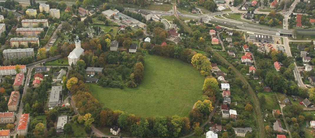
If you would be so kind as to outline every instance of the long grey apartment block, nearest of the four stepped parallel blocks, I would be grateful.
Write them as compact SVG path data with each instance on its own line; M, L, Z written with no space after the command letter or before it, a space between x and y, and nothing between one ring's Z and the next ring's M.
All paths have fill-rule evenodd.
M5 49L3 50L3 58L13 59L13 58L25 58L34 57L34 48L25 49Z

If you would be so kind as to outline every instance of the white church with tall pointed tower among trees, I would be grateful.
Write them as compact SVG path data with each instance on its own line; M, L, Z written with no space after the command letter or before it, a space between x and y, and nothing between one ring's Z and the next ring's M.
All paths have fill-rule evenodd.
M76 65L80 55L84 55L84 49L81 48L81 41L79 40L79 36L77 36L77 40L75 41L75 43L76 48L74 48L68 56L68 62L70 66L72 65L72 63L73 65Z

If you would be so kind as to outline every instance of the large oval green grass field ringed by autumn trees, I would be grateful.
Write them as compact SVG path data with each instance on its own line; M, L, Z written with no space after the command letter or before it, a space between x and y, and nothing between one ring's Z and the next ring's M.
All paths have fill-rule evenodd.
M126 113L184 117L202 95L204 78L192 64L155 55L144 57L144 78L137 88L89 84L90 92L106 107Z

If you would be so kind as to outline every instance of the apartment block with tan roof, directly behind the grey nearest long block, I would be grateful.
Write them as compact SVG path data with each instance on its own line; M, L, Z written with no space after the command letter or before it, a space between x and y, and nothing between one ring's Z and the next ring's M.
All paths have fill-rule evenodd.
M20 45L28 46L28 43L37 44L39 46L39 38L37 37L24 37L24 38L18 38L14 37L10 39L10 45L11 47L19 47Z

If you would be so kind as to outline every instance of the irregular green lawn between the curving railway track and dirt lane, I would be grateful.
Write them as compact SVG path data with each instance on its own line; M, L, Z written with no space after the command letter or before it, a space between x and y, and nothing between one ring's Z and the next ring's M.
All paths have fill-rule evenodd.
M269 110L273 110L273 109L279 109L280 110L278 100L277 100L277 98L273 92L267 92L267 91L258 92L258 97L261 97L262 95L265 96L266 103L267 103L265 108L267 108Z

